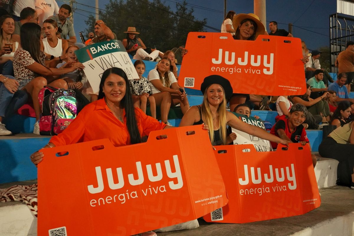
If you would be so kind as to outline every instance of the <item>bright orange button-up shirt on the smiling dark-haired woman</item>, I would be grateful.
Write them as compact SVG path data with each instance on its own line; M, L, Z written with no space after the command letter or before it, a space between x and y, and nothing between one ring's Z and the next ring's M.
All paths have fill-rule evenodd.
M149 135L150 131L164 129L166 124L147 116L139 108L135 108L136 120L140 135ZM120 122L110 111L104 99L86 105L78 116L61 134L50 140L55 146L68 145L108 138L115 147L129 145L130 135L127 128L125 110Z

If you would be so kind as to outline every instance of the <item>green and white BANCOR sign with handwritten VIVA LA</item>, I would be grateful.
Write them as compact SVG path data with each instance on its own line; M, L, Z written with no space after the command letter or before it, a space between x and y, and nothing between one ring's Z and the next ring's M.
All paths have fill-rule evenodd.
M103 72L111 67L125 71L128 79L138 79L138 73L120 40L93 43L75 51L78 60L85 66L84 72L94 93L99 91Z

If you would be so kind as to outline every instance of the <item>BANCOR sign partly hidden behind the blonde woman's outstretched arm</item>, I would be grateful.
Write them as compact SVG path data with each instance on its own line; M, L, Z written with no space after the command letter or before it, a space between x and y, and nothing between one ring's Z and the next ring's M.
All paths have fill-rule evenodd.
M258 126L259 128L262 128L265 130L265 126L260 119L256 119L253 117L246 117L242 116L239 114L234 113L236 116L240 118L241 121L250 124L250 125L255 125ZM234 132L237 135L237 138L234 140L234 144L253 144L255 146L257 152L269 152L272 151L272 146L270 145L270 142L268 140L264 140L262 138L259 138L257 136L253 136L250 134L247 134L243 131L236 130L232 128L232 132ZM242 150L244 152L249 152L249 149L244 149Z

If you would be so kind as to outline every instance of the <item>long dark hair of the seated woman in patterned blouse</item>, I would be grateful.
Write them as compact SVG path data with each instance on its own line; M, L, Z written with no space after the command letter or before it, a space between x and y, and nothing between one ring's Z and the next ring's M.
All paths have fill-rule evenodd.
M29 52L36 62L43 65L40 60L42 55L40 43L41 26L32 22L25 23L21 26L20 34L22 48Z

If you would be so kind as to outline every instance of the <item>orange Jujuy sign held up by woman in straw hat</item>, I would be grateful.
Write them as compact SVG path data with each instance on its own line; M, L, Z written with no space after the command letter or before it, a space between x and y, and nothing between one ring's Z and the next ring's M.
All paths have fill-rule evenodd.
M301 40L259 35L234 40L229 33L191 32L178 84L200 89L209 75L227 78L234 93L301 95L306 93Z

